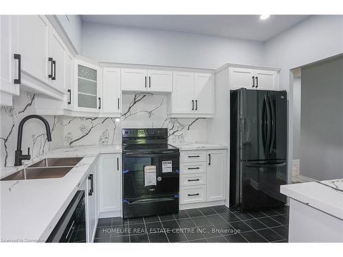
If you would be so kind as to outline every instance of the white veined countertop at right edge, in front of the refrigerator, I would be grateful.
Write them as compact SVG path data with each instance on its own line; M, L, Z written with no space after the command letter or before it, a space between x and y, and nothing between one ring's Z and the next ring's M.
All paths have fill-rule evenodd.
M281 186L281 193L343 219L343 179Z

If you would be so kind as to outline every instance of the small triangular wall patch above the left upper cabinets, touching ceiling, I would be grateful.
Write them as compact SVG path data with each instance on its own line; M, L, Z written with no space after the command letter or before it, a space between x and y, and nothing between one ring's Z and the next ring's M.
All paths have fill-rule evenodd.
M82 49L82 21L79 15L56 15L78 53Z

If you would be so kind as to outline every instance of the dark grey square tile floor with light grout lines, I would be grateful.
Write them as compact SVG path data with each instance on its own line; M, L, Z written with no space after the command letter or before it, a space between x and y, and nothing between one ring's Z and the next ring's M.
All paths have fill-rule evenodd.
M99 219L95 243L284 243L288 213L287 207L239 212L213 206L177 215Z

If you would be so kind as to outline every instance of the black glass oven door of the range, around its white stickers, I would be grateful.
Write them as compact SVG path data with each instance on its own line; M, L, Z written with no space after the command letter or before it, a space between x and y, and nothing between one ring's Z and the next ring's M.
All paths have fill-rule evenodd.
M171 172L162 172L162 162L171 161ZM145 186L144 167L156 166L156 186ZM178 193L178 154L137 154L123 156L123 197Z

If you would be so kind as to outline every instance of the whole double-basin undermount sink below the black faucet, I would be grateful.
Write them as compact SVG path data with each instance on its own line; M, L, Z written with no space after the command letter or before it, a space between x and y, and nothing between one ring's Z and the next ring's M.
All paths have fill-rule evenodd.
M43 178L62 178L81 158L46 158L36 162L25 169L8 175L1 180L37 180Z

